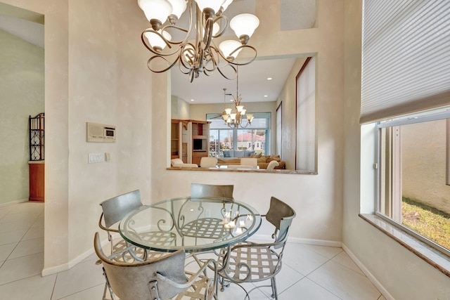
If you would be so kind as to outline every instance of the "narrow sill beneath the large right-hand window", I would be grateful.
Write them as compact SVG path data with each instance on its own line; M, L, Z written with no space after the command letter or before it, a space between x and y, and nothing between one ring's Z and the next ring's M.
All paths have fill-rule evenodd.
M378 216L375 216L375 214L359 214L359 216L371 225L375 226L375 228L381 230L381 232L392 237L392 239L399 242L399 244L403 247L419 256L420 259L430 263L431 266L437 268L437 270L450 277L449 256L437 251L437 249L430 247L428 244L425 244L403 230L392 226L392 224L379 218Z

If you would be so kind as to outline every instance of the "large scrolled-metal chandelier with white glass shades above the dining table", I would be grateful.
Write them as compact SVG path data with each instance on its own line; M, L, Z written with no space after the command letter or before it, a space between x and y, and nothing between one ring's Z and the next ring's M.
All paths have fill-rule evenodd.
M226 79L234 79L236 66L248 65L257 56L256 49L247 43L258 27L259 19L243 13L229 22L223 13L231 2L233 0L138 0L151 25L141 34L144 46L154 54L148 59L148 69L162 73L178 63L180 71L188 74L191 82L201 73L210 76L214 70ZM187 29L176 26L186 8L189 11ZM214 39L221 37L229 26L240 41L226 40L219 47L215 46ZM170 32L176 31L186 33L184 39L172 41ZM193 32L195 40L191 37ZM238 63L235 59L243 48L250 49L253 56ZM158 60L168 63L168 67L158 68ZM225 67L228 67L226 72Z

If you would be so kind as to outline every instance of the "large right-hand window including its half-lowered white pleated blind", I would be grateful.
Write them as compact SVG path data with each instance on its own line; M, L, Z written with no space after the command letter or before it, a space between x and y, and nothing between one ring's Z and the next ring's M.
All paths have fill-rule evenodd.
M361 213L375 210L410 233L391 236L439 266L432 248L416 246L411 235L450 255L450 3L364 0L362 21L361 191L375 188L367 181L371 126L378 128L378 186L372 207L361 201Z

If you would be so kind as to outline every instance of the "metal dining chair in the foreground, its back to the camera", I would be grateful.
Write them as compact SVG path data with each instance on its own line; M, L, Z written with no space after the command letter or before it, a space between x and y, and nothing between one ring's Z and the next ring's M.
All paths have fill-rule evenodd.
M185 271L184 249L148 261L117 262L103 252L98 233L94 237L94 249L113 300L116 296L121 300L217 299L217 266L212 259L196 273ZM212 278L205 275L207 270L214 272Z

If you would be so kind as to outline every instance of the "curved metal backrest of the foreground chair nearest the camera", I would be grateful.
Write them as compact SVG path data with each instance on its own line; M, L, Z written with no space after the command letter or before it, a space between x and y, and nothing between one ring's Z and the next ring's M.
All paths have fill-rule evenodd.
M161 274L179 284L188 282L184 273L186 258L184 249L158 259L139 263L121 263L111 261L105 256L98 233L94 237L94 249L102 261L111 289L121 300L169 299L186 290L174 287L164 280L158 280L157 275Z

